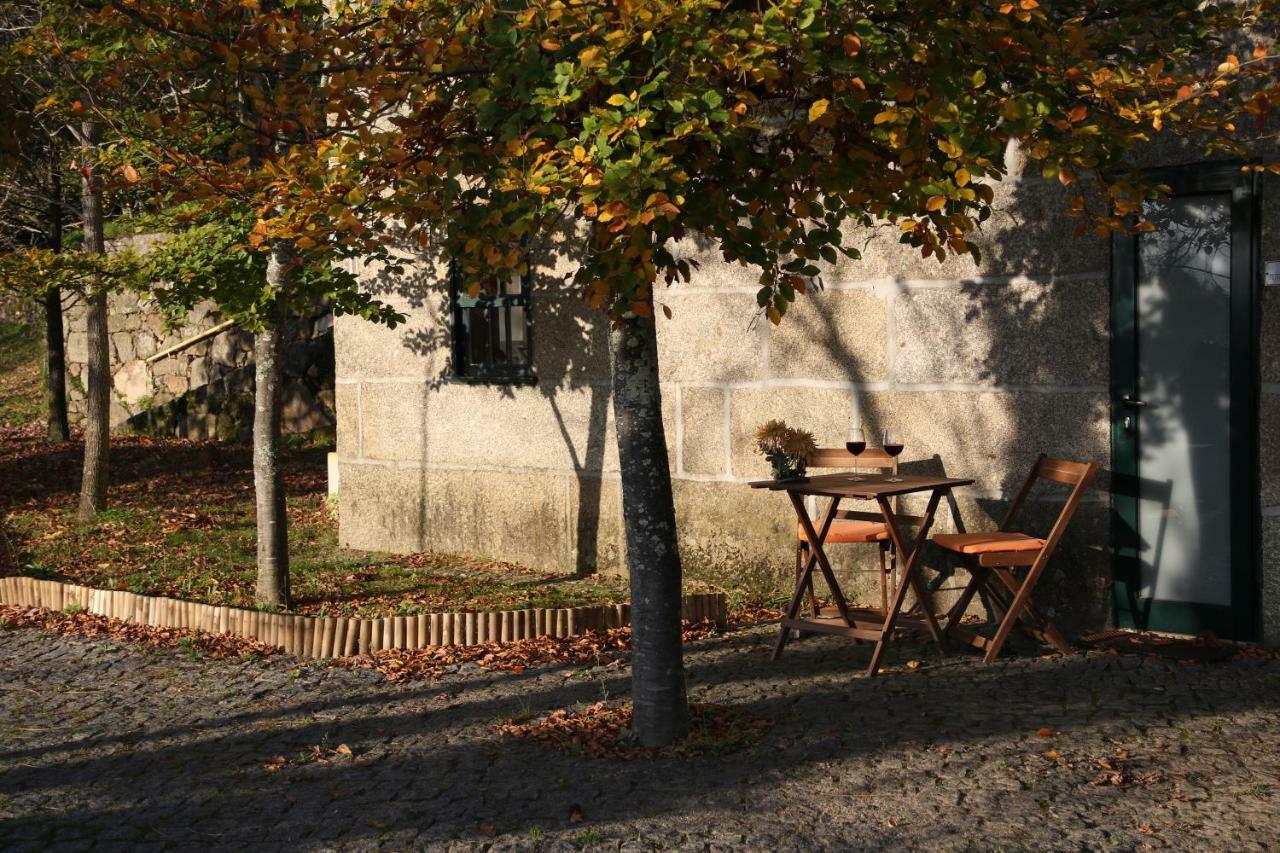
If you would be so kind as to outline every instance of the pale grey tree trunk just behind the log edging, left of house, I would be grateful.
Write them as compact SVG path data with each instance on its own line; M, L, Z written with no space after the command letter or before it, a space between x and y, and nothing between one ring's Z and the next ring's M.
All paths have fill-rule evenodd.
M280 243L271 248L266 282L276 292L292 275L291 254ZM257 593L260 605L289 606L289 532L280 475L280 384L285 302L278 297L275 315L253 337L253 493L257 502Z

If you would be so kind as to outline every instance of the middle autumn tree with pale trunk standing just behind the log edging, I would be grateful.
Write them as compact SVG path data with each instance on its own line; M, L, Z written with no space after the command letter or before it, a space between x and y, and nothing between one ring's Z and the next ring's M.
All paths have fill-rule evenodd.
M40 46L50 44L74 60L37 110L79 115L95 138L108 128L115 168L95 163L86 181L92 178L100 188L106 173L119 186L150 193L150 206L160 211L155 220L170 232L145 261L129 259L132 284L174 314L212 300L225 316L255 333L256 597L262 605L288 606L288 523L279 459L282 338L291 316L316 304L376 321L398 319L335 265L357 250L378 252L378 246L351 241L358 222L351 220L347 238L325 241L269 240L261 227L265 216L288 213L273 200L279 164L311 158L310 168L319 173L317 140L348 129L320 109L320 53L308 50L311 27L334 32L329 13L321 3L261 9L243 3L115 8L27 0L27 5L33 19L8 51L13 65L33 65ZM164 96L138 97L133 82L140 78L163 86ZM371 114L365 110L361 118ZM86 245L101 254L100 213L95 222L99 227L87 229ZM20 264L10 266L19 277L52 269L42 255L28 252L17 260ZM95 318L105 341L105 288L92 289L92 297L91 345ZM101 370L91 362L90 386L105 401L110 389L105 355L100 361ZM95 382L96 375L106 375L106 382ZM93 432L101 442L87 442L86 482L95 470L90 461L105 460L105 418L104 407L102 426ZM105 471L95 483L105 491Z

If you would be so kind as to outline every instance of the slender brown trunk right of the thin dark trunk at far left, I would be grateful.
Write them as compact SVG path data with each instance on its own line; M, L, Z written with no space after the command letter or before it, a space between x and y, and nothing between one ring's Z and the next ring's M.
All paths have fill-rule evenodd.
M84 251L106 252L102 237L102 188L92 167L97 146L97 124L81 126L83 163L81 164L81 206ZM84 388L84 471L76 516L90 520L106 508L106 471L111 418L111 353L106 334L106 291L88 300L88 380Z

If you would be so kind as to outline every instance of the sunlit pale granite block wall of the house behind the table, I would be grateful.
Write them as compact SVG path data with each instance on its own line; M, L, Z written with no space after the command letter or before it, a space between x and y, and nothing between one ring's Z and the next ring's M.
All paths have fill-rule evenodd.
M980 264L920 259L888 229L858 234L863 259L828 269L826 288L778 327L753 321L753 273L710 247L681 247L700 266L657 298L672 311L658 329L686 574L790 573L790 506L746 487L768 475L753 432L782 418L840 446L858 420L868 435L901 430L909 470L975 478L954 507L970 530L998 523L1039 452L1102 465L1041 589L1068 626L1107 622L1110 241L1074 238L1060 187L1018 177L1016 164L1012 174L996 187ZM1280 256L1276 183L1263 192L1267 257ZM534 387L449 382L444 277L424 266L387 282L365 270L410 323L335 325L342 544L622 570L605 324L561 283L567 269L545 264L534 289ZM1265 607L1267 635L1280 639L1280 304L1270 291L1262 313ZM1051 519L1059 503L1033 506ZM934 532L952 526L948 515ZM854 547L832 552L841 571L864 567ZM869 576L854 580L870 594ZM943 596L957 580L936 576Z

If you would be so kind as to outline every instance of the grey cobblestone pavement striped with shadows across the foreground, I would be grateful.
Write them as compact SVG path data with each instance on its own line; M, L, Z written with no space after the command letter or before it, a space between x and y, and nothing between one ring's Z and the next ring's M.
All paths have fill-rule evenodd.
M611 763L492 726L617 697L625 667L393 685L0 631L0 849L1280 847L1280 662L922 649L868 680L867 646L773 663L771 639L687 652L695 699L776 720L759 744Z

